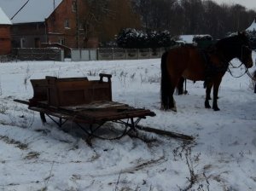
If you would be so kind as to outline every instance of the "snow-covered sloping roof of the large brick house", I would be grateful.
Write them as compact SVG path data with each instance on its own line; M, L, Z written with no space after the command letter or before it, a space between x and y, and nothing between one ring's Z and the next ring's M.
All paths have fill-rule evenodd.
M43 22L61 1L62 0L0 0L0 7L2 7L3 11L11 20L19 9L26 4L24 8L15 15L13 20L11 20L12 23Z

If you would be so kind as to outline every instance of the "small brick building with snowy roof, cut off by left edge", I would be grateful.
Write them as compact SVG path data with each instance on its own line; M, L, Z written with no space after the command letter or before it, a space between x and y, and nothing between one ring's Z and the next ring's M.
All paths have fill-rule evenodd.
M11 52L11 25L8 16L4 14L0 7L0 55L8 55Z

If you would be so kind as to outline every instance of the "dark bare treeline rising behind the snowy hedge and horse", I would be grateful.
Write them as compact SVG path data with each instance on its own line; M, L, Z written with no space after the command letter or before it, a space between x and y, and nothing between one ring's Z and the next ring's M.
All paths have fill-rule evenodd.
M240 4L218 4L212 0L131 0L141 14L144 30L168 30L172 35L210 34L223 38L242 31L256 12Z

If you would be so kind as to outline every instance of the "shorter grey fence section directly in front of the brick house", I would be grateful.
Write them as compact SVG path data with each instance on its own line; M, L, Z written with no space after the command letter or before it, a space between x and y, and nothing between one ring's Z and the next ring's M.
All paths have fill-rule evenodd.
M20 61L64 61L62 49L14 49L17 59Z

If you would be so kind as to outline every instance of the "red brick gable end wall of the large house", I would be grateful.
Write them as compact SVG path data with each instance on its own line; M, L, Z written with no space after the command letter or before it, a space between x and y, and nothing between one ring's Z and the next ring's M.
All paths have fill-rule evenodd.
M85 8L83 0L63 0L45 20L48 42L84 48L84 29L79 14L84 13ZM89 48L97 48L97 44L91 44Z

